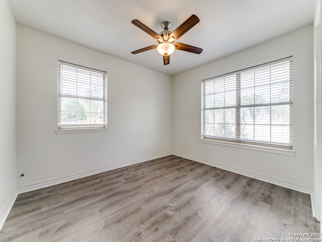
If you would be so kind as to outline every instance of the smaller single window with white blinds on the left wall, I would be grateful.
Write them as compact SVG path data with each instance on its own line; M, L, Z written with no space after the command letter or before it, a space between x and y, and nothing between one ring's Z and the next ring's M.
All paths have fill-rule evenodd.
M106 128L106 72L58 62L58 130Z

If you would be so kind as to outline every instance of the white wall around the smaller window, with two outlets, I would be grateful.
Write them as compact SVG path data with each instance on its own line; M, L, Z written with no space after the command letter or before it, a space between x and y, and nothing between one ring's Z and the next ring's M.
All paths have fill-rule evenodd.
M172 151L170 76L21 25L17 56L19 192ZM58 59L107 71L108 132L55 134Z

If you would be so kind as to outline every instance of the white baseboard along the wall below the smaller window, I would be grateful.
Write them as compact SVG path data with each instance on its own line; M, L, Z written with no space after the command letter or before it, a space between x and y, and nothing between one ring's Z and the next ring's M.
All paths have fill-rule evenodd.
M161 157L171 155L171 154L172 154L171 152L162 153L162 154L158 154L158 155L144 157L144 158L141 158L141 159L135 159L135 160L122 162L122 163L119 163L119 164L116 164L116 165L106 166L106 167L99 168L99 169L89 170L89 171L85 171L85 172L81 172L81 173L75 173L75 174L71 174L71 175L68 175L68 176L62 176L62 177L55 178L55 179L45 180L45 181L41 181L40 183L18 187L17 192L18 192L18 194L26 193L26 192L34 191L34 190L37 190L37 189L57 185L57 184L60 184L60 183L65 183L66 181L75 180L75 179L83 178L83 177L86 177L86 176L102 173L102 172L105 172L105 171L114 170L114 169L118 169L118 168L121 168L121 167L138 164L138 163L141 163L141 162L144 162L144 161L161 158Z

